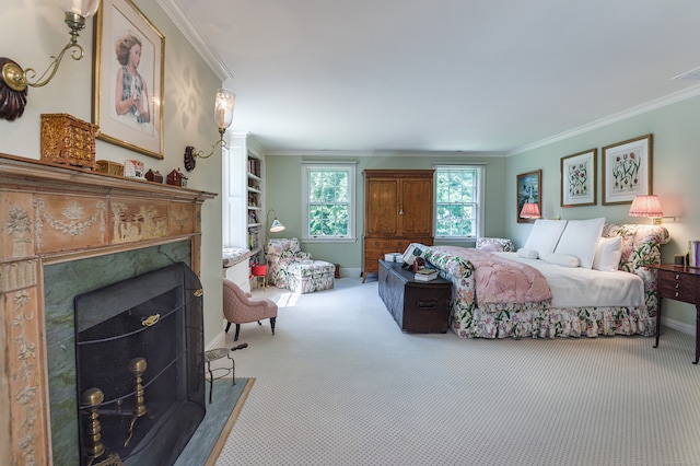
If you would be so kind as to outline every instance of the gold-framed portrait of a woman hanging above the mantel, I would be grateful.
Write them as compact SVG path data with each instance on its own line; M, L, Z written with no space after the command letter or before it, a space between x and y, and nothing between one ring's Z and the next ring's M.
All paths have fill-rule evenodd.
M94 50L97 138L163 159L165 37L130 0L103 0Z

